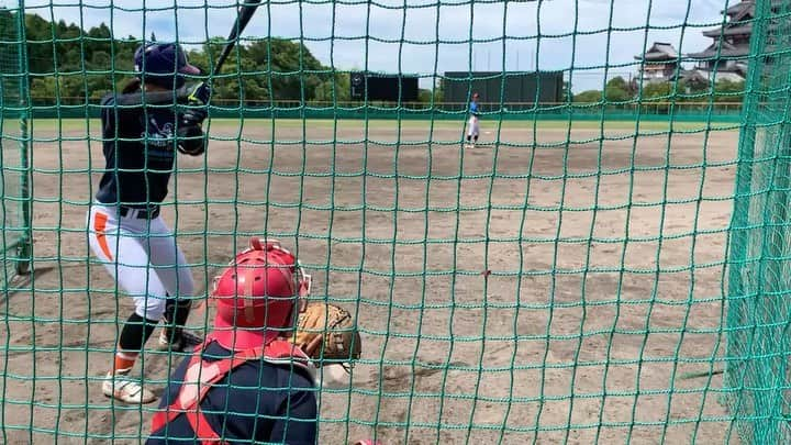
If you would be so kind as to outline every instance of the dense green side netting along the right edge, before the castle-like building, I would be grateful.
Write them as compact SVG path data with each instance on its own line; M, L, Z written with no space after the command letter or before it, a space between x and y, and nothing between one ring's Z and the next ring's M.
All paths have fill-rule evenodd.
M788 205L791 5L765 1L754 25L751 94L745 107L733 224L728 310L728 404L754 443L786 443L791 313Z

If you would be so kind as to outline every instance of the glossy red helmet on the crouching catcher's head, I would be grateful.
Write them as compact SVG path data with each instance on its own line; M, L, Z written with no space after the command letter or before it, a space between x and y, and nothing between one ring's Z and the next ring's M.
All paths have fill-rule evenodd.
M290 334L310 286L311 277L279 242L252 237L249 248L214 280L212 337L227 349L242 351Z

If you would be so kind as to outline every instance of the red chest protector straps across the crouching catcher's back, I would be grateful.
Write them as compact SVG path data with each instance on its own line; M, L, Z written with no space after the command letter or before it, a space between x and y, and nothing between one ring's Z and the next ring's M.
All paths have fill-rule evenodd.
M226 445L227 443L211 427L200 410L200 402L205 398L212 385L222 380L234 368L254 359L264 358L272 363L290 361L305 368L309 366L308 357L302 353L302 349L285 340L276 340L264 347L239 351L233 356L220 360L203 361L201 360L201 352L211 342L210 335L202 345L196 347L176 400L164 411L157 411L154 414L152 433L161 430L167 423L185 414L196 433L198 443L202 445Z

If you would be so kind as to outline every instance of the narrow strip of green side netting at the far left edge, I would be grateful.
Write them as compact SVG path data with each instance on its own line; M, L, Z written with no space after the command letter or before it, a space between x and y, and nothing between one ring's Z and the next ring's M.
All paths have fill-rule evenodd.
M0 9L0 220L2 289L27 269L30 222L26 205L26 85L21 15Z

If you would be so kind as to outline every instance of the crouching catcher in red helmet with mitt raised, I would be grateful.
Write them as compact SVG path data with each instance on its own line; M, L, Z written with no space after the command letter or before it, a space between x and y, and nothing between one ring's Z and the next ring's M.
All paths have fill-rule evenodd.
M250 238L215 278L214 330L170 376L146 444L314 444L315 367L350 364L360 337L348 312L308 309L310 288L290 252Z

